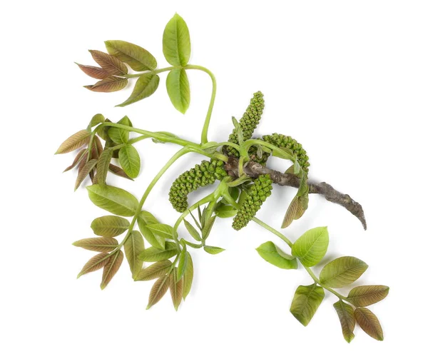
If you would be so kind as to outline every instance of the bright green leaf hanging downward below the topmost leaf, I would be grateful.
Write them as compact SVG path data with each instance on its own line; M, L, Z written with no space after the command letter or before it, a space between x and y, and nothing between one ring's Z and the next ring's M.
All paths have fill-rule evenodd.
M190 105L190 86L185 69L173 69L166 77L166 91L173 106L185 113Z

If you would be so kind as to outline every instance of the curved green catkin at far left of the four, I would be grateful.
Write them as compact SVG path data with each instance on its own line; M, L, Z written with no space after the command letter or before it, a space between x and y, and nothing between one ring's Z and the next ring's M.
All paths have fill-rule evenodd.
M187 196L198 188L213 184L227 176L223 161L203 161L180 174L170 188L169 201L178 212L184 212L188 208Z

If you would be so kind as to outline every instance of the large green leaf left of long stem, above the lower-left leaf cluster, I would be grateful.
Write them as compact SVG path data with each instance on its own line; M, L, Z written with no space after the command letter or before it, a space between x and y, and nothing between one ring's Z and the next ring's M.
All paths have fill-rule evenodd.
M110 213L119 216L134 216L137 212L137 199L122 188L92 185L86 189L91 201Z

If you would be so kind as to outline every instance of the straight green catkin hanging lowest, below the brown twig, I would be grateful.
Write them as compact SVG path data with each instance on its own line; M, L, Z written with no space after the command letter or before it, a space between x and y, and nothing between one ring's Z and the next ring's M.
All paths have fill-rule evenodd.
M272 179L268 174L262 174L255 179L253 186L248 191L247 198L243 206L236 213L233 218L232 227L235 230L247 226L250 220L255 216L255 213L260 210L263 202L270 196L272 190Z

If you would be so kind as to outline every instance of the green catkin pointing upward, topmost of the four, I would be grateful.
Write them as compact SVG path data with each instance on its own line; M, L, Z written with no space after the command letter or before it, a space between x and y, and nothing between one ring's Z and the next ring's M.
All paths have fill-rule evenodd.
M253 98L250 100L250 105L245 111L242 118L240 118L239 124L243 130L244 141L248 140L253 136L255 128L257 128L260 118L262 117L263 108L265 108L265 100L263 99L263 93L260 91L254 93ZM235 133L235 129L229 136L229 142L238 144L238 135ZM232 147L226 147L226 153L228 156L238 157L239 153Z

